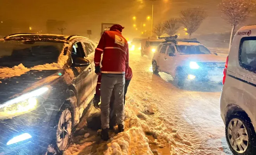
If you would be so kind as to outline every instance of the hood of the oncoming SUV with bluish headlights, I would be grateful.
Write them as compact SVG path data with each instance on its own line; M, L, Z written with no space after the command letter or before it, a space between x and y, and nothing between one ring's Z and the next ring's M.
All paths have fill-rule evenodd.
M214 54L191 54L191 55L179 55L183 61L194 62L226 62L225 57L220 57Z

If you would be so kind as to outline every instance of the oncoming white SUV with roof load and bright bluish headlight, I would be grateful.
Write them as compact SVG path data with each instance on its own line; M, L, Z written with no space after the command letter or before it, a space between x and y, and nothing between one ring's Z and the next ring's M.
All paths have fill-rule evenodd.
M154 73L171 74L178 86L183 86L185 80L222 81L225 57L217 56L195 39L159 39L166 41L157 47L152 59Z

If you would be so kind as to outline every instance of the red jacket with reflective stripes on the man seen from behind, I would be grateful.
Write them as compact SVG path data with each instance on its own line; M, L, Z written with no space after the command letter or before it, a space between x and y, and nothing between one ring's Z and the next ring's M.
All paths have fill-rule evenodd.
M103 74L125 74L125 72L128 72L128 42L120 31L105 31L102 34L99 45L95 49L95 66L100 65L102 53L101 72Z

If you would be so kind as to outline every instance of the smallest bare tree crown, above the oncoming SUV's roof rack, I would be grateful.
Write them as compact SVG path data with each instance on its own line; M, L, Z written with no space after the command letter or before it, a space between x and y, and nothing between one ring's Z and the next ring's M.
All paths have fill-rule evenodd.
M172 18L163 24L164 32L169 36L175 34L180 28L179 19Z

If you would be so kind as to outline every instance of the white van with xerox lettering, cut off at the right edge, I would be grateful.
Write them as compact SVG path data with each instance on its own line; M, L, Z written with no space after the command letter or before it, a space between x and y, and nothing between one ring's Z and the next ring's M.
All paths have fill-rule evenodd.
M235 155L256 154L256 25L240 28L224 69L220 98L226 139Z

